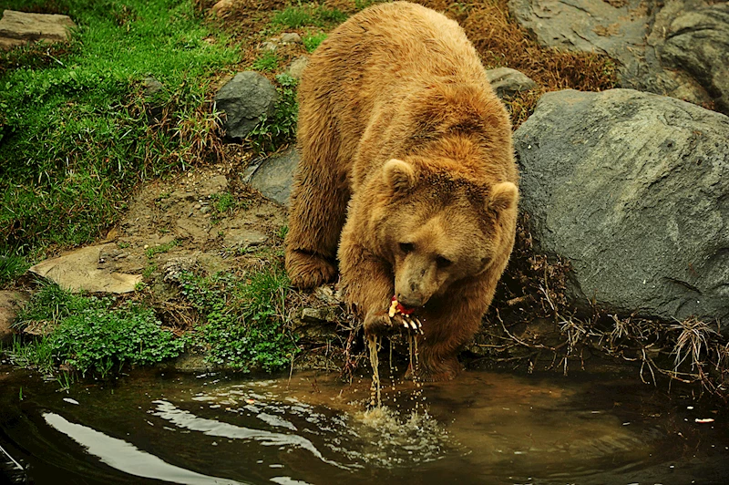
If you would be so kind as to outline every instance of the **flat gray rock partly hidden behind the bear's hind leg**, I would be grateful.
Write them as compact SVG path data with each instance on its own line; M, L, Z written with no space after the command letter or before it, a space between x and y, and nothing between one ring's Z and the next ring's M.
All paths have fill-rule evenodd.
M299 153L294 148L290 148L262 160L261 164L252 170L252 175L247 182L269 199L288 205L293 184L293 171L296 170L298 163Z

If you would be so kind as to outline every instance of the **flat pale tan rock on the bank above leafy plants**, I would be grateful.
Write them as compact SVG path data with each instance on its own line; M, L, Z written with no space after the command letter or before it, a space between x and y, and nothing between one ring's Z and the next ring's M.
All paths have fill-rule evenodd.
M47 278L68 291L90 293L129 293L141 283L139 274L99 269L99 258L114 243L88 246L63 256L37 263L28 271Z

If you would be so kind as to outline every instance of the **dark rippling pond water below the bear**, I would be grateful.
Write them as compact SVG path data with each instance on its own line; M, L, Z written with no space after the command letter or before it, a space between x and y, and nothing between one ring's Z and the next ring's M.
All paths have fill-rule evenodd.
M56 382L0 367L0 481L723 484L729 478L727 413L675 389L669 395L614 374L485 371L422 388L384 384L384 407L366 411L369 377L343 383L313 372L271 379L155 370L60 392Z

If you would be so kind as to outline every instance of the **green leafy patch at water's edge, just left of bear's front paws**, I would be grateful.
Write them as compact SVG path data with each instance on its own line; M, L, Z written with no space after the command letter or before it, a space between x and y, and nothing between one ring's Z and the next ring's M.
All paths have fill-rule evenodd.
M244 278L183 273L180 284L204 322L190 343L204 350L211 364L242 372L273 372L291 364L298 348L285 327L289 280L281 267Z

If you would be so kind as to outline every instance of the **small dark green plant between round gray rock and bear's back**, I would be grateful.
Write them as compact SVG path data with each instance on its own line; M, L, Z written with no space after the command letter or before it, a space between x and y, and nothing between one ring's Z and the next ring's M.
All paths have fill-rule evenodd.
M248 135L247 141L256 151L272 151L293 139L296 134L296 119L299 104L296 101L298 81L288 74L276 76L279 84L279 99L272 117L262 117Z

